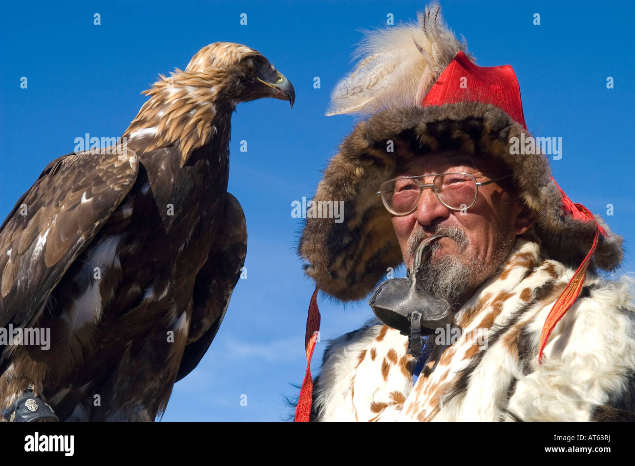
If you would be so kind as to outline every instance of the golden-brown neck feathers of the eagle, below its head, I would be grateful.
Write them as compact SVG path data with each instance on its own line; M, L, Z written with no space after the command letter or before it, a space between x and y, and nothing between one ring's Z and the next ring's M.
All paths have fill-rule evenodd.
M161 75L159 75L161 76ZM217 133L216 121L231 115L236 102L225 98L226 76L217 72L176 70L144 91L150 98L124 136L142 143L144 151L179 143L183 166L192 150ZM141 141L142 140L142 141Z

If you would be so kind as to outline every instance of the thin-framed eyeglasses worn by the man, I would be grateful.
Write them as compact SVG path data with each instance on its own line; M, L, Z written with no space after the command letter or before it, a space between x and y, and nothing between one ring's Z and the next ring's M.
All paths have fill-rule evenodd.
M377 196L382 196L385 208L392 215L408 215L417 209L421 193L425 188L434 190L441 204L450 210L465 210L476 202L478 187L497 182L511 175L501 176L486 182L476 182L469 173L439 173L432 184L420 182L432 175L404 176L382 183Z

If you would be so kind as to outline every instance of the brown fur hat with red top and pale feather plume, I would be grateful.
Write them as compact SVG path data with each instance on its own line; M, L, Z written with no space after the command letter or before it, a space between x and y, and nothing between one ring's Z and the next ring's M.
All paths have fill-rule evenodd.
M512 138L531 136L512 68L474 64L438 4L418 19L418 25L371 33L363 59L333 93L328 114L371 116L345 138L318 185L313 201L344 201L344 221L307 218L298 246L308 261L305 273L339 300L368 295L388 267L403 262L391 215L375 193L402 161L447 149L488 154L512 173L552 258L583 263L584 272L617 267L622 237L566 197L546 156L512 153ZM464 89L458 84L465 77Z

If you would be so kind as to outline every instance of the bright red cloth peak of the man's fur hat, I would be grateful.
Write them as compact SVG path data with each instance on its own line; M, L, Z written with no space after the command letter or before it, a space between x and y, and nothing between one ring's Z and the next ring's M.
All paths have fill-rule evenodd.
M421 105L428 107L465 101L491 103L527 127L518 79L511 65L479 67L459 51L425 95Z

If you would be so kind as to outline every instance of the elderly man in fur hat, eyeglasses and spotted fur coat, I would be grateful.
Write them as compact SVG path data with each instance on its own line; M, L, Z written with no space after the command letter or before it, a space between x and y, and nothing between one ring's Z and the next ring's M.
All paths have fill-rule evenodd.
M297 420L635 420L629 285L596 273L618 266L621 237L566 197L547 157L512 150L531 135L511 67L475 65L436 5L419 25L376 32L335 92L333 113L372 116L314 197L344 200L344 222L307 219L299 246L340 300L402 260L415 288L375 291L389 325L330 343Z

